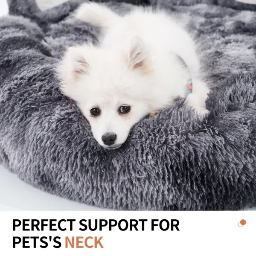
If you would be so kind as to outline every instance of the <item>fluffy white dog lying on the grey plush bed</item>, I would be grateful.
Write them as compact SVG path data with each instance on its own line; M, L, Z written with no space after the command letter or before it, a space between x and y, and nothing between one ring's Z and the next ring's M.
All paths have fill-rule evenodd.
M104 5L84 3L76 17L102 27L102 41L70 47L58 76L104 148L118 148L141 118L185 96L189 78L193 91L186 105L207 113L209 89L194 41L166 12L137 8L121 17Z

